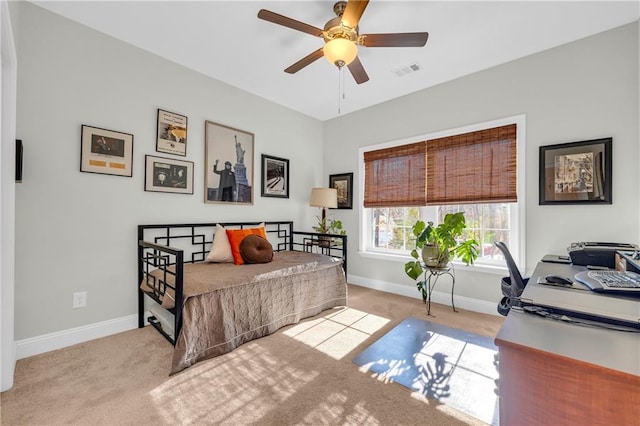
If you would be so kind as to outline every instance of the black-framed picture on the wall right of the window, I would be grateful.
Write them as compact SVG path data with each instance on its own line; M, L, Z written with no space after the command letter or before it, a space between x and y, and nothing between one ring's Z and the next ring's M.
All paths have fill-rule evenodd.
M540 204L611 204L611 138L540 147Z

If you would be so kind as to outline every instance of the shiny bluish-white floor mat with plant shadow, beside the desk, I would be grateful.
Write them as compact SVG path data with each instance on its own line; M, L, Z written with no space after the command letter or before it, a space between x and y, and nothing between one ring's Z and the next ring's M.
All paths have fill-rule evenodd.
M409 317L353 362L488 424L498 424L493 339Z

